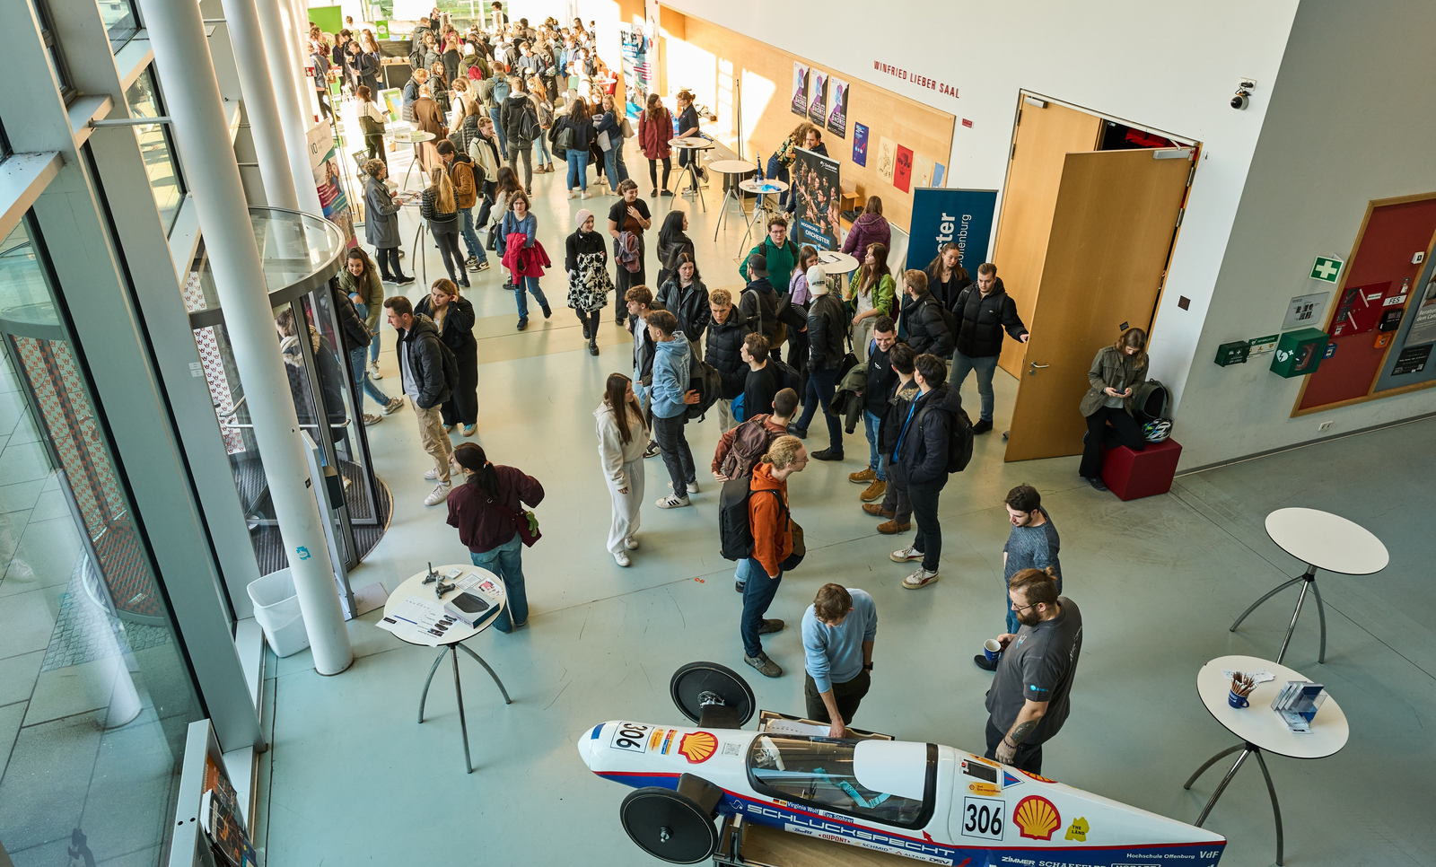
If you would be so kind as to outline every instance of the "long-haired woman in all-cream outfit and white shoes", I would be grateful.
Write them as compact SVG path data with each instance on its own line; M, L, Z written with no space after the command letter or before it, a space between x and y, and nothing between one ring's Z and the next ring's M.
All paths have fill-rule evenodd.
M609 527L609 554L619 566L629 564L629 551L638 550L638 508L643 502L643 448L648 428L643 411L633 395L633 380L609 373L603 402L593 411L597 419L599 459L603 481L613 498L613 524Z

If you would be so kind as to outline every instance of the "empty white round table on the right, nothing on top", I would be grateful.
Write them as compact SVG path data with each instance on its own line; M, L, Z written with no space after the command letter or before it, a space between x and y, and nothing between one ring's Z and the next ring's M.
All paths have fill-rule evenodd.
M1267 535L1282 551L1305 563L1307 571L1254 601L1232 623L1229 632L1236 632L1246 614L1255 611L1261 603L1301 581L1297 610L1291 614L1291 626L1287 627L1287 637L1281 642L1277 662L1287 656L1287 645L1291 643L1291 633L1297 630L1297 617L1301 616L1301 603L1307 599L1307 590L1311 590L1317 597L1317 616L1321 620L1321 652L1317 655L1317 662L1325 663L1327 607L1321 603L1321 590L1317 589L1317 570L1324 568L1344 576L1370 576L1386 568L1391 557L1381 540L1376 538L1366 527L1314 508L1278 508L1267 515Z

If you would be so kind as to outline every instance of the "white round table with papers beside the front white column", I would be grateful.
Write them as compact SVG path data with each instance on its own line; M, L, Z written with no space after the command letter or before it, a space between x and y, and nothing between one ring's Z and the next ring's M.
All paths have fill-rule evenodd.
M490 603L490 610L485 611L484 619L475 622L474 626L468 626L462 620L457 620L454 622L452 626L444 630L442 636L425 634L428 630L419 632L418 627L411 627L411 630L396 629L392 632L392 634L401 642L409 645L421 645L425 647L442 647L442 650L439 650L438 657L434 660L434 665L429 666L429 676L425 678L424 680L424 692L419 693L421 725L424 723L424 703L429 698L429 683L434 682L434 672L439 669L439 663L444 662L445 656L448 656L454 662L454 696L458 699L458 726L460 732L464 736L464 768L467 769L467 772L472 774L474 762L472 759L470 759L468 755L468 722L464 719L464 690L458 682L458 652L462 650L464 653L468 653L478 662L478 665L484 666L484 670L488 672L488 676L493 678L494 683L498 685L498 692L504 695L504 703L505 705L513 703L513 699L508 698L508 690L504 689L504 682L498 679L498 675L494 673L494 669L488 667L488 663L484 662L482 656L474 653L472 650L468 649L467 645L464 645L464 642L484 632L485 629L493 626L495 620L498 620L498 614L503 613L508 601L508 593L504 590L503 578L488 571L487 568L481 568L470 563L451 563L447 566L438 566L434 567L434 574L448 581L445 576L448 576L454 570L460 571L457 583L467 583L467 578L470 578L470 576L477 577L477 581L474 581L472 586L467 587L467 590L470 593L474 593L475 596L482 596L485 601ZM454 590L447 591L442 597L435 597L434 581L429 580L428 583L425 583L425 578L429 578L429 574L431 573L428 570L424 570L418 574L405 578L402 584L395 587L393 593L389 594L388 601L383 603L383 619L392 623L396 619L396 614L401 610L404 600L406 600L409 596L419 596L426 600L435 599L437 601L447 603L465 589L465 587L455 587ZM412 624L412 622L409 623Z

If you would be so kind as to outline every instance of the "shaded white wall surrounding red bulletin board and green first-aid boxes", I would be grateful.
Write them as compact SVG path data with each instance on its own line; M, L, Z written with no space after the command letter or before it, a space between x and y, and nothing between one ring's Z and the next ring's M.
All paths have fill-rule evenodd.
M1271 356L1212 363L1222 343L1279 330L1291 296L1325 289L1311 261L1350 254L1370 200L1436 191L1433 32L1429 0L1301 3L1186 379L1183 467L1436 412L1427 389L1290 418L1301 380L1271 373Z

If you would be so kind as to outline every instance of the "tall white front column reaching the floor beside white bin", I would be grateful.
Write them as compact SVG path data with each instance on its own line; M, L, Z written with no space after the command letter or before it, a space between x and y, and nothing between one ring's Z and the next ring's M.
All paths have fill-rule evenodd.
M174 119L175 139L185 156L185 179L213 261L214 287L224 307L234 362L254 418L254 438L264 458L264 475L309 630L314 669L320 675L337 675L353 663L353 650L339 607L325 520L310 487L313 479L200 6L194 0L141 0L141 9L149 26L155 69Z

